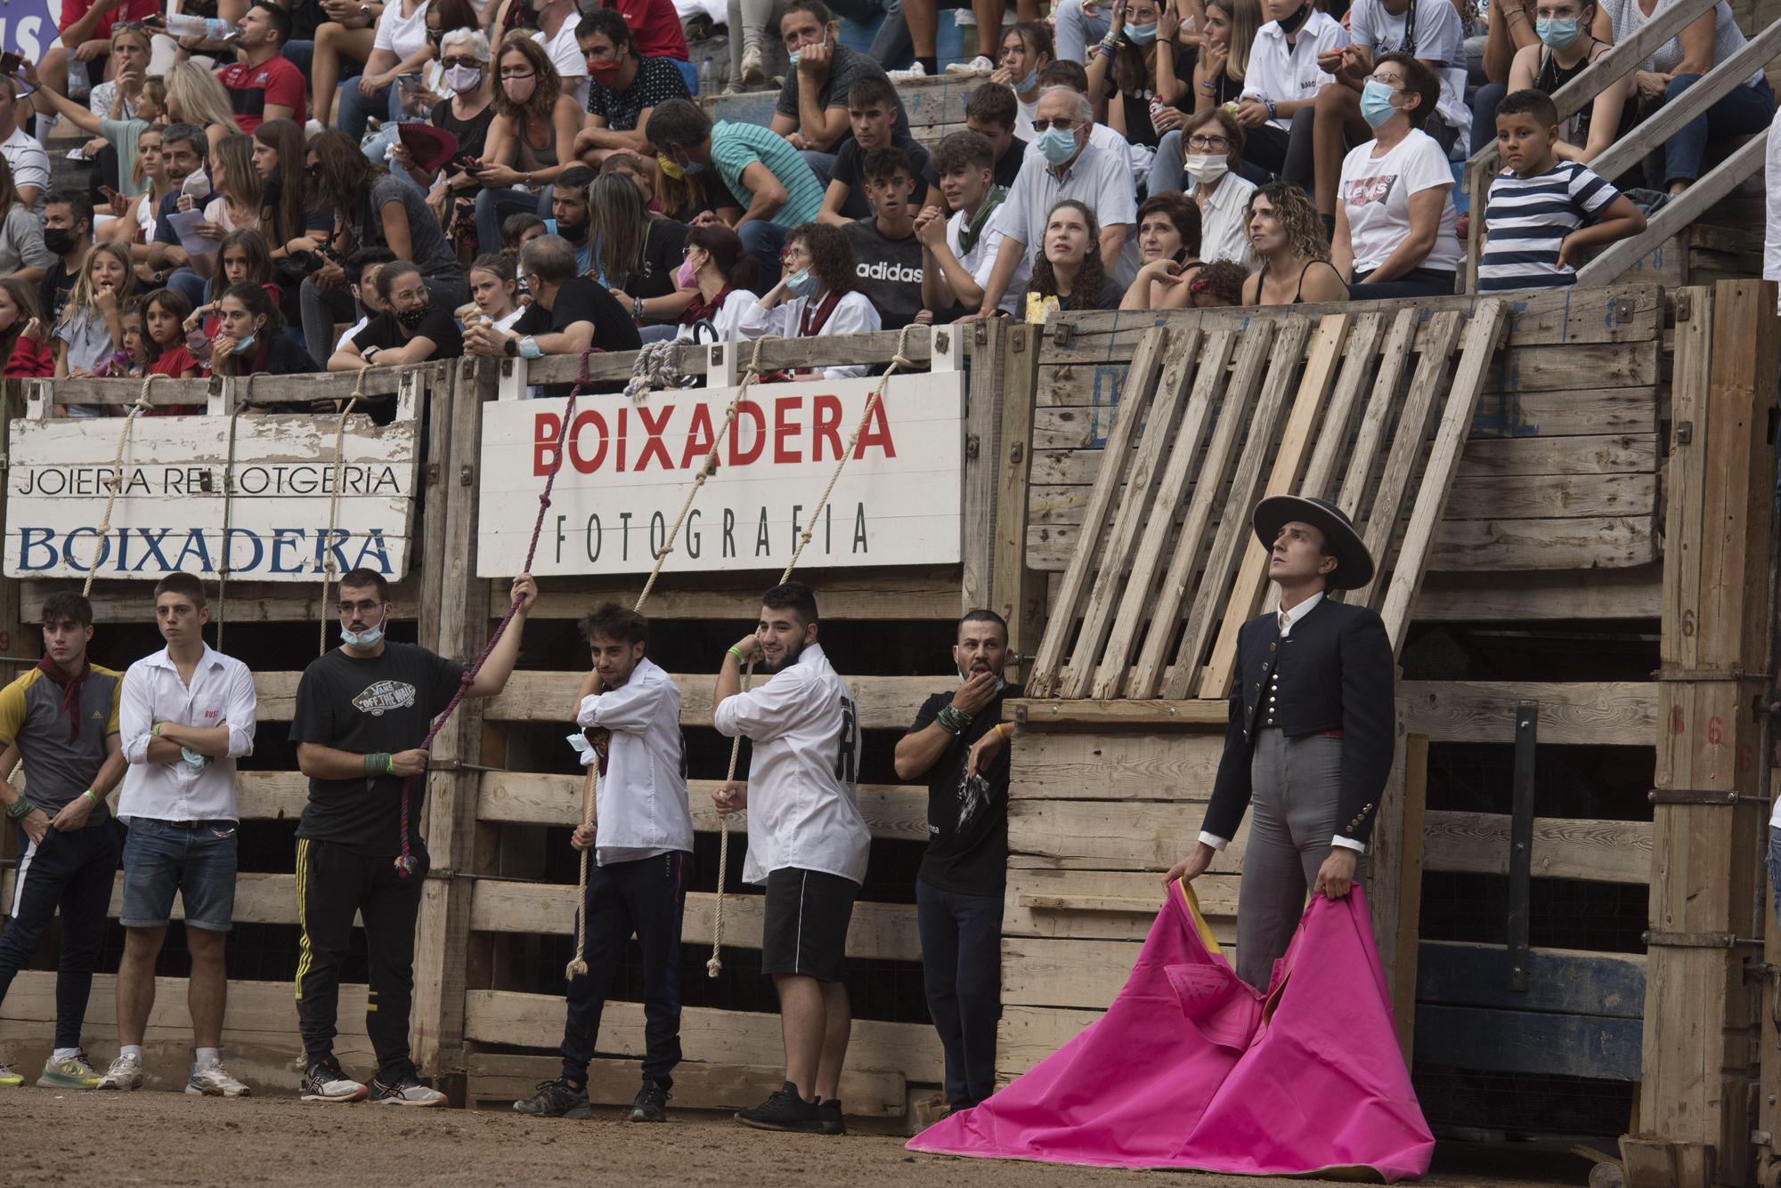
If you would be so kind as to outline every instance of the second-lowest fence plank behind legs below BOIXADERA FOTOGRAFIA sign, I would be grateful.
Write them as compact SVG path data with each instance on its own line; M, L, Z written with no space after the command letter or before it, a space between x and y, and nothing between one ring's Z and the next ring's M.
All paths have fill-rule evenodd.
M53 975L52 975L53 976ZM342 1008L342 1015L344 1015ZM563 1033L563 999L556 994L470 991L465 996L465 1039L481 1044L547 1048ZM785 1046L777 1014L687 1007L680 1012L680 1044L687 1060L727 1065L780 1065ZM641 1056L643 1003L609 1001L600 1015L595 1051ZM855 1019L848 1067L901 1072L923 1085L944 1078L940 1037L926 1023Z

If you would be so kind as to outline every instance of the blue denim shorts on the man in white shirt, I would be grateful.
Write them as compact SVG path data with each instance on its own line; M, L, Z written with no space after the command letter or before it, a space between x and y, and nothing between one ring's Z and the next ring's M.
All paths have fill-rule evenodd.
M159 928L173 916L173 893L185 925L228 932L235 914L235 822L164 822L132 816L123 843L125 928Z

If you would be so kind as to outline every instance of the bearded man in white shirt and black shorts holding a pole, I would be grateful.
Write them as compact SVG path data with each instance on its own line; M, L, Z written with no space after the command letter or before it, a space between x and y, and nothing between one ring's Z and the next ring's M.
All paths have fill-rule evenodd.
M748 781L721 784L718 813L748 813L743 879L766 886L760 973L773 976L785 1087L736 1117L777 1131L844 1135L841 1065L853 1015L841 983L853 898L871 832L855 800L860 724L853 694L816 642L816 594L801 582L760 596L760 622L723 656L712 726L753 742ZM743 692L743 665L773 674Z

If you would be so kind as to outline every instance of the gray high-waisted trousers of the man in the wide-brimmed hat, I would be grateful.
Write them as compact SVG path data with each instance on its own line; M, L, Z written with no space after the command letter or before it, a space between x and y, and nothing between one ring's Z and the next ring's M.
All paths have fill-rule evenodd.
M1259 991L1273 978L1273 962L1305 914L1305 891L1336 836L1341 793L1339 738L1288 738L1273 727L1256 734L1248 777L1248 845L1236 912L1236 973ZM1366 857L1354 880L1366 879Z

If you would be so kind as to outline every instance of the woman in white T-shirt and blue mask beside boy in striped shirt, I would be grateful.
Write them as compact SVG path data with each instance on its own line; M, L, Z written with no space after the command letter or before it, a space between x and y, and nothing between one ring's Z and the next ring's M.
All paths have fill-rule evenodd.
M1453 171L1423 132L1441 85L1403 53L1378 59L1361 96L1373 140L1341 164L1330 261L1352 297L1446 297L1460 247Z

